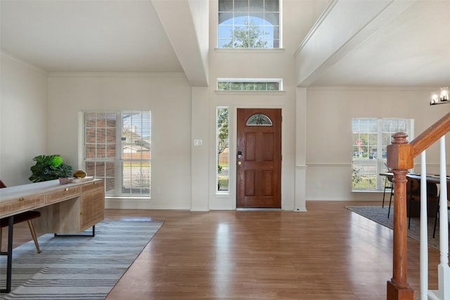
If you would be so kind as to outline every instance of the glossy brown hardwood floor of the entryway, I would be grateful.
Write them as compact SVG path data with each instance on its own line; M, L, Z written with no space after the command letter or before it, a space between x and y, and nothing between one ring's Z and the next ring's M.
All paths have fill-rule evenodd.
M380 202L308 202L307 212L107 210L106 219L165 221L107 299L386 299L392 230L346 204ZM26 223L15 226L15 245L27 240ZM408 242L420 299L419 244ZM439 252L429 255L436 289Z

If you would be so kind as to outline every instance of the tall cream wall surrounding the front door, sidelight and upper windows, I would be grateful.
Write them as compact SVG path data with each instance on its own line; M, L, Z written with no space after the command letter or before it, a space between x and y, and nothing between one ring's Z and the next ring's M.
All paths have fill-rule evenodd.
M217 1L210 3L210 124L215 124L217 106L230 109L230 185L229 195L210 192L210 209L236 208L236 110L239 107L281 108L282 174L281 207L293 210L295 206L295 60L294 53L300 41L314 24L327 1L282 1L283 48L281 49L217 49ZM281 78L283 92L238 93L217 92L217 78ZM210 180L214 183L215 131L211 127Z

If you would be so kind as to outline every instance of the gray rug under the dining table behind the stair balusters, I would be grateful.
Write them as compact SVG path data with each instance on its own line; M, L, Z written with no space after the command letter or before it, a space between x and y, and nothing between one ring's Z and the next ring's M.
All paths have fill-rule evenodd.
M387 219L388 207L381 206L346 206L345 208L350 211L360 214L361 216L371 219L376 223L380 223L387 228L392 229L392 222L394 220L394 210L391 207L391 213L389 219ZM406 219L408 222L408 219ZM406 223L408 224L408 223ZM436 227L436 237L433 238L433 226L435 225L435 218L428 218L428 246L435 249L439 249L439 219ZM408 236L412 237L414 240L420 240L420 220L419 218L411 218L411 226L408 229Z

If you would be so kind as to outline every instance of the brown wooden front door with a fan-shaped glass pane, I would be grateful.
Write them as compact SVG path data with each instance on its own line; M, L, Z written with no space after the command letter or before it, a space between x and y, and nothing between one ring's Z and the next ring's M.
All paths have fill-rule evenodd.
M272 124L248 124L258 114ZM236 207L281 208L281 110L238 109L237 147Z

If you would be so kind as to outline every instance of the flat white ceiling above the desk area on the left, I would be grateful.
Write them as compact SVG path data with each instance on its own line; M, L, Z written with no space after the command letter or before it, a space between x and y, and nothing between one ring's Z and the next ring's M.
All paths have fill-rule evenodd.
M1 50L47 72L183 72L150 1L1 0Z

